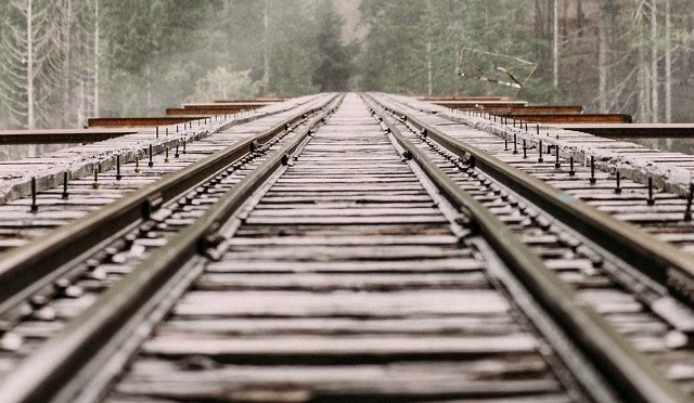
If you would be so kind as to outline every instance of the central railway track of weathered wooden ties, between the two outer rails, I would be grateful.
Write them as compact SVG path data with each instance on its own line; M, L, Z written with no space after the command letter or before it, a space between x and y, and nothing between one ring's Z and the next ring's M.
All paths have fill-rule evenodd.
M378 101L227 150L98 258L24 280L3 400L691 399L686 268L641 272Z

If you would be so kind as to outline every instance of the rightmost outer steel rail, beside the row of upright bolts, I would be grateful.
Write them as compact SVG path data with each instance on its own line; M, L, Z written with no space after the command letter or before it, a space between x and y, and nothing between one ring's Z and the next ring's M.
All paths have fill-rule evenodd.
M666 286L672 295L690 307L694 307L694 259L691 255L659 240L633 224L599 211L570 194L556 190L477 147L447 135L402 109L389 109L404 117L417 130L425 131L426 135L449 152L461 158L474 159L475 166L481 171Z

